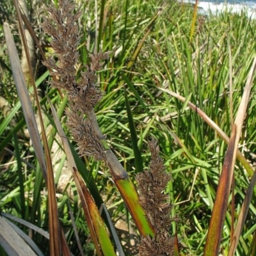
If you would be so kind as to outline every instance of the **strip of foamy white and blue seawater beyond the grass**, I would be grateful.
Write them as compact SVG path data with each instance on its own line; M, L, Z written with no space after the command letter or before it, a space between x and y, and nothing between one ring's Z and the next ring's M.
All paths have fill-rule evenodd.
M195 0L184 0L187 3L195 3ZM211 11L212 14L220 13L223 10L231 10L231 12L239 13L242 10L246 10L248 17L256 19L256 0L255 1L239 1L239 0L199 0L198 7L200 12L205 14Z

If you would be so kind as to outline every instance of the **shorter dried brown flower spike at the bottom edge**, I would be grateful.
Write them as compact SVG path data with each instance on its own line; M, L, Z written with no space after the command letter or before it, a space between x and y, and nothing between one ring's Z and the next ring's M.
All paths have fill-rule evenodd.
M174 239L170 237L170 212L172 205L168 203L168 195L164 189L171 179L166 172L163 159L159 157L157 141L152 138L148 142L151 161L148 170L144 170L136 177L140 191L140 202L147 218L156 230L154 237L143 237L139 246L140 255L173 255Z

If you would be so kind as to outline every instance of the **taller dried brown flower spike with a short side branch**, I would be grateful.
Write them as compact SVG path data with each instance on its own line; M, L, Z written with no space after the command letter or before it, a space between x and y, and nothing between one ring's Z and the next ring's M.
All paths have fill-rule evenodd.
M77 141L79 154L103 160L104 152L100 143L102 134L97 129L93 108L103 95L97 84L96 72L102 69L102 61L109 58L109 52L89 54L91 63L85 66L86 72L81 72L79 82L76 81L75 65L79 59L77 47L81 39L77 20L81 12L75 13L74 8L75 4L70 0L60 0L58 9L52 6L47 8L50 15L44 17L42 28L52 38L51 46L58 61L50 57L44 61L44 65L51 68L52 76L60 77L59 81L51 81L51 86L67 90L67 125ZM84 114L87 119L84 119Z

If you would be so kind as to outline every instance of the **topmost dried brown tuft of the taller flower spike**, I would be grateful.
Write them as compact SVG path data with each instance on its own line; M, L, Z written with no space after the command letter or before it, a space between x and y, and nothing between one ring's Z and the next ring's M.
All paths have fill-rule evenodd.
M49 6L48 17L44 17L42 28L52 38L51 46L58 56L58 64L52 56L44 61L44 65L51 68L52 76L60 76L60 81L51 81L51 85L57 88L65 88L69 93L77 90L76 70L81 35L77 26L77 20L81 12L74 14L75 4L72 1L60 1L59 8Z

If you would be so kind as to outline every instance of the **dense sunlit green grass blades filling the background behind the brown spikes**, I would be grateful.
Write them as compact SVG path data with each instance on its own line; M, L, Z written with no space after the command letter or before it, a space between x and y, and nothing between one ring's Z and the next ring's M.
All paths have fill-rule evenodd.
M164 165L168 172L172 172L173 178L166 193L170 193L172 204L184 201L173 207L172 211L173 216L179 218L177 233L181 238L180 251L184 255L202 255L227 145L197 113L188 108L187 103L190 101L202 109L230 136L230 115L236 116L246 77L256 53L256 21L248 19L246 12L241 15L223 12L218 17L198 15L195 33L191 37L193 8L174 1L161 6L162 2L101 1L96 6L97 13L93 1L88 6L82 4L84 14L79 26L84 35L79 47L81 57L76 67L77 77L84 70L83 64L88 61L88 51L93 52L95 47L113 51L104 70L99 72L100 87L106 93L96 108L100 128L132 179L136 172L147 168L147 140L150 136L157 138ZM49 38L40 34L40 29L37 32L38 37L42 38L42 44L46 45ZM8 115L0 116L0 207L1 211L47 230L45 184L33 148L24 136L26 125L10 78L10 64L2 36L1 40L3 75L0 94L8 100L11 109ZM47 51L51 52L45 47L45 54ZM45 125L54 126L45 95L51 98L60 116L64 116L66 101L61 98L58 90L48 88L47 79L51 78L41 67L40 57L38 65L40 68L36 77L38 87L43 91ZM230 68L234 109L230 109ZM187 100L180 102L160 88L179 93ZM125 93L129 104L125 100ZM253 86L239 148L252 164L255 161L253 152L256 143L255 104ZM65 117L61 122L65 129ZM55 132L54 129L49 132L51 143ZM76 148L74 141L72 145ZM63 159L60 161L63 164ZM80 170L88 170L82 175L97 204L102 202L100 192L111 209L114 222L125 215L125 207L109 179L106 166L88 157L82 161L77 160L77 164ZM250 177L238 161L235 173L234 193L236 212L239 213ZM70 186L75 191L72 182ZM68 214L69 201L67 194L61 191L58 197L60 218L67 232L70 249L77 255L77 245L72 242L75 238ZM255 204L254 194L236 255L246 255L252 243L256 229ZM79 209L77 196L72 198L71 205L81 244L86 244L88 228ZM229 243L230 223L230 216L227 216L221 248L223 255L227 253L225 250ZM170 232L174 231L173 225ZM38 234L35 234L33 240L39 245L47 243ZM44 252L45 248L41 249ZM84 248L88 253L86 255L90 255L91 250L90 246Z

